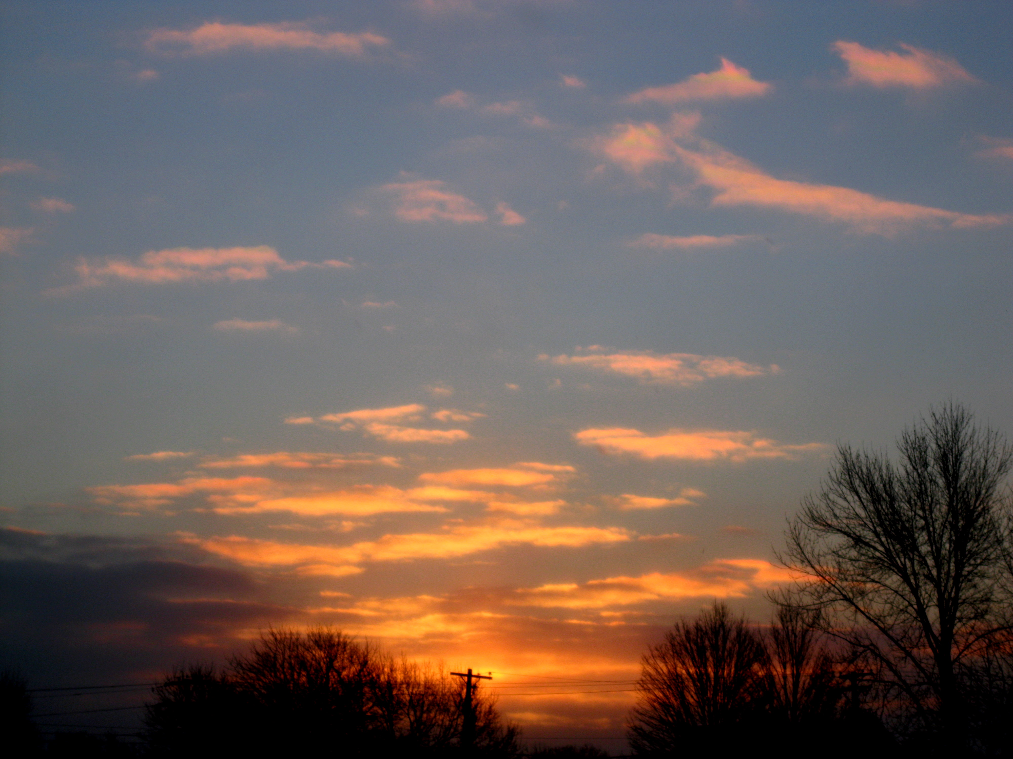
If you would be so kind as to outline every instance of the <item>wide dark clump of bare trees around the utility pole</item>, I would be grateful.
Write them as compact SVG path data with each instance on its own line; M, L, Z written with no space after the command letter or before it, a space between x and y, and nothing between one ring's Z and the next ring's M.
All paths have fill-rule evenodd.
M155 688L147 738L164 757L461 753L463 686L342 632L272 628L221 670L191 666ZM476 756L512 757L518 730L472 694Z

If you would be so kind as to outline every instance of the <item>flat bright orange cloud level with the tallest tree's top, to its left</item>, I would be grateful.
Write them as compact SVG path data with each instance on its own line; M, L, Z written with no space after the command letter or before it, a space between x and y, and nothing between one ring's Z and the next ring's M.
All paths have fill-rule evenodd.
M681 458L690 461L745 461L751 458L793 458L798 453L823 450L823 443L784 445L757 437L753 432L671 429L646 435L636 429L610 427L586 429L573 435L581 445L603 453L628 453L638 458Z

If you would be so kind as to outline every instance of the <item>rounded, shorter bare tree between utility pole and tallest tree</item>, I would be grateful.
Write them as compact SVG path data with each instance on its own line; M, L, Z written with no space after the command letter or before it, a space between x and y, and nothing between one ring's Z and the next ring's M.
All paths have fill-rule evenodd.
M630 712L638 754L686 750L725 737L763 708L766 652L761 638L723 603L681 621L641 662L640 695ZM730 732L729 732L730 731Z

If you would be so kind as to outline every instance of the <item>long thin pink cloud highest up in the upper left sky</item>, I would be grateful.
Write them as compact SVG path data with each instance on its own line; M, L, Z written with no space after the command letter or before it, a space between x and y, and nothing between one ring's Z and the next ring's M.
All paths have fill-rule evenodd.
M390 39L372 32L313 31L307 22L222 23L205 21L192 29L155 29L145 47L154 53L207 56L235 50L267 52L314 50L363 58L369 49L384 48Z

